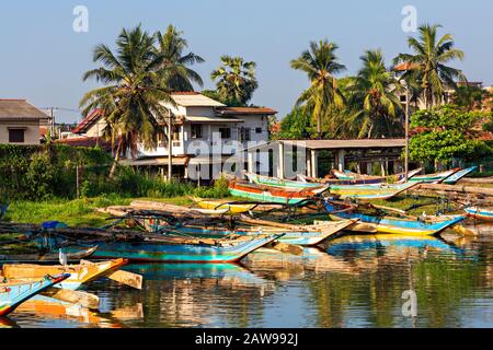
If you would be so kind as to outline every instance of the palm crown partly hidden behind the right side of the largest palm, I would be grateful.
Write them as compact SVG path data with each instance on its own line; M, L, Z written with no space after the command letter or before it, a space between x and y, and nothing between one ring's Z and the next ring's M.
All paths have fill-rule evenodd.
M162 66L167 68L164 80L168 88L173 91L194 91L193 83L202 88L204 82L200 75L188 66L202 63L204 59L194 52L183 54L188 44L182 35L183 32L171 24L164 34L157 32L157 50L164 57Z

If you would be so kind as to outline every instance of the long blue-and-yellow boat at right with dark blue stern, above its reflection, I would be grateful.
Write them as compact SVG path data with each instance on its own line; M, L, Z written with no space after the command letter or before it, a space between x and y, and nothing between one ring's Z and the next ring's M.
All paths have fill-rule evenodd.
M406 235L435 235L454 226L466 219L466 215L433 215L417 218L402 215L402 218L369 214L352 210L352 206L333 205L324 202L325 210L332 220L359 219L363 223L375 229L376 233L406 234ZM351 228L349 228L351 230Z

